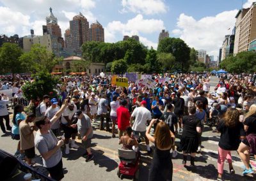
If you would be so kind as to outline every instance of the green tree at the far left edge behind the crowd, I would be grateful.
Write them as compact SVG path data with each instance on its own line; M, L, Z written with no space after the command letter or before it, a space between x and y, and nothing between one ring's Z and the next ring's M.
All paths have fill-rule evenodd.
M22 50L15 43L4 43L0 49L0 73L22 73L24 66L19 60Z

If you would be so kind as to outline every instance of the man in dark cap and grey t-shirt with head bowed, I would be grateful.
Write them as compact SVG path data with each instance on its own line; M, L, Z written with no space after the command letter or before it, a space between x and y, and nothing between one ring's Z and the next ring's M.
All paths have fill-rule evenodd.
M81 110L77 110L74 117L77 119L77 129L82 138L83 148L86 149L83 156L86 156L86 162L91 161L93 159L93 154L91 152L93 129L90 117L84 114Z

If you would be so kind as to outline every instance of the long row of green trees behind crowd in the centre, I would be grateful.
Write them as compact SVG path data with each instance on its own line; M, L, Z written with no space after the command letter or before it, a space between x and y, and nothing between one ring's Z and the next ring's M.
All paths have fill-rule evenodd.
M116 43L88 41L83 44L82 50L84 59L103 62L106 70L112 73L159 73L172 69L189 71L189 66L196 63L196 50L189 48L180 38L164 38L157 50L148 50L133 39Z

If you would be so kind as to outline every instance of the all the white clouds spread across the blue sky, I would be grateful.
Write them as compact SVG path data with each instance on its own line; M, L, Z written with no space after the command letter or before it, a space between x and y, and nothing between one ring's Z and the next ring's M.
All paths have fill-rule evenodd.
M99 1L95 0L0 0L0 2L3 4L0 6L0 33L8 36L13 34L25 36L29 34L30 29L34 29L35 34L42 34L42 25L45 24L50 6L64 34L65 29L69 27L69 20L79 13L77 10L80 10L92 23L97 19L92 10L100 5ZM243 8L249 8L253 2L255 0L246 1ZM120 36L136 34L140 36L141 43L157 48L157 42L150 41L152 39L157 41L157 37L150 40L148 37L166 28L163 20L148 17L167 13L166 0L122 0L120 6L122 7L120 13L132 13L134 17L127 22L118 20L109 22L104 27L106 42L115 42L120 40ZM223 11L218 15L199 20L181 13L170 36L182 38L189 47L205 49L209 55L217 56L225 34L230 34L234 27L237 11Z

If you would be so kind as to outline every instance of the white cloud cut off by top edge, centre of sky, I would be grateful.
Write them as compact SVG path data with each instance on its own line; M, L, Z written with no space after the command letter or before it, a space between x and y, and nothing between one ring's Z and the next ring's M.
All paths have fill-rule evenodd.
M163 0L122 0L123 9L121 13L131 11L133 13L143 13L154 15L166 13L167 6Z

